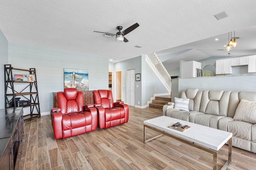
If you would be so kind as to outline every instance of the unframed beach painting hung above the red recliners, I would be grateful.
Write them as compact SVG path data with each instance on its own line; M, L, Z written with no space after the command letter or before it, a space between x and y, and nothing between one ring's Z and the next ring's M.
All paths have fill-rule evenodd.
M76 88L78 91L89 90L88 70L64 68L64 88Z

